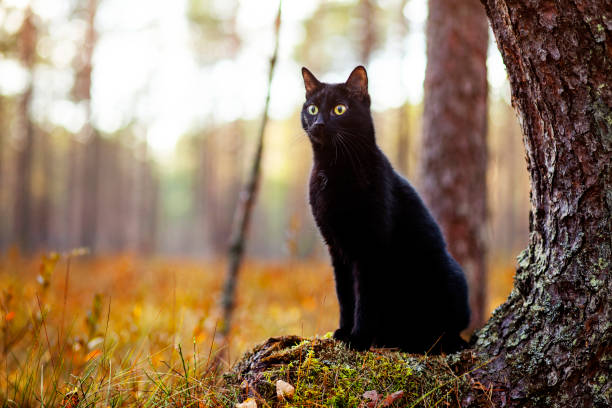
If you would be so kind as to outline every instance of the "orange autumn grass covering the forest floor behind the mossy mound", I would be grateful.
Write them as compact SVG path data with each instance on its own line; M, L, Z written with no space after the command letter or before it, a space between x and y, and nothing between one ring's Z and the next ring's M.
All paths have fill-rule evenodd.
M325 340L338 313L325 261L249 261L220 350L224 272L221 261L9 251L0 258L0 405L234 407L244 390L228 386L230 369L256 344L294 334L336 347ZM492 269L491 309L513 273L512 263Z

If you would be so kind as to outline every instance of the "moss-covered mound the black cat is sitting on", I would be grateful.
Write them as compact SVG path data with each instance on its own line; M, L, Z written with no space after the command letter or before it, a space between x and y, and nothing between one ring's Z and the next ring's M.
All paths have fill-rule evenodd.
M403 391L391 406L446 407L470 404L468 371L478 365L469 351L449 357L355 352L330 338L287 336L255 347L225 378L228 390L238 387L242 399L255 398L258 406L366 407L363 394L373 390L383 398ZM277 380L295 387L290 401L277 399Z

